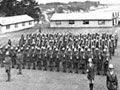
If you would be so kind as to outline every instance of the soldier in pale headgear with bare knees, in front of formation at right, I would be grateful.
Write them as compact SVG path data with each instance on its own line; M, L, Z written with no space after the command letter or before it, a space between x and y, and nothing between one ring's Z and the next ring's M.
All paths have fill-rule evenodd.
M92 63L92 59L88 59L88 65L87 65L87 78L89 80L89 88L90 90L93 90L94 85L94 78L95 78L95 68L94 64Z

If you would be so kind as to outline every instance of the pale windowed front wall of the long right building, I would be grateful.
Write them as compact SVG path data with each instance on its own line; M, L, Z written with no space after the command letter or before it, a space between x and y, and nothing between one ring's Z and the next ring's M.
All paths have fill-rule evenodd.
M56 21L50 22L50 27L112 27L112 20L106 20L105 24L98 24L98 21L89 21L89 24L83 24L83 21L75 21L74 24L69 24L69 21L61 21L61 24L56 25Z

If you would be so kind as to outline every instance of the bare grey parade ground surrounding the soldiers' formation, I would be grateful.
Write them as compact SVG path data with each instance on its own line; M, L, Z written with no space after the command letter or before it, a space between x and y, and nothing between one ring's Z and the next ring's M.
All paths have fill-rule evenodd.
M64 30L65 31L65 30ZM118 33L120 36L120 28L105 28L105 29L68 29L64 33L95 33L95 32L107 32ZM25 31L19 31L14 33L8 33L0 35L0 44L6 44L8 38L12 39L13 43L18 42L21 34L36 33L36 29L30 29ZM42 33L48 32L47 30ZM61 32L60 30L51 30L49 33ZM63 32L63 31L62 31ZM110 61L115 67L115 72L118 75L120 86L120 38L118 48L116 49L115 56ZM11 82L6 82L7 76L4 68L0 68L0 90L89 90L88 81L86 75L75 73L62 73L62 72L50 72L40 70L23 70L23 75L17 75L18 71L12 69ZM94 90L107 90L106 77L96 76Z

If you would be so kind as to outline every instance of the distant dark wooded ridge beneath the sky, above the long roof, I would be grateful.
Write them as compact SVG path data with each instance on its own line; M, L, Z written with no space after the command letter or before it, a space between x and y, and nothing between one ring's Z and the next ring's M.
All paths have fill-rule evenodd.
M100 2L92 2L92 1L85 1L85 2L69 2L69 3L46 3L39 5L42 11L52 11L59 12L62 8L63 11L71 11L71 12L79 12L80 10L89 11L90 7L98 8L99 6L104 6Z

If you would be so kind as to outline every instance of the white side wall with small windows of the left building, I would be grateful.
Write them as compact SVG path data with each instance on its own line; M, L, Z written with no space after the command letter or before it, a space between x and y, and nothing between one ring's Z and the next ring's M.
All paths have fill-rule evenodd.
M13 32L13 31L19 31L19 30L22 30L22 29L26 29L26 28L31 28L34 26L34 21L30 21L31 22L31 25L29 24L29 21L27 22L22 22L22 23L17 23L17 24L11 24L10 25L10 28L6 28L8 25L4 25L1 27L1 33L6 33L6 32ZM23 26L23 23L25 24Z

